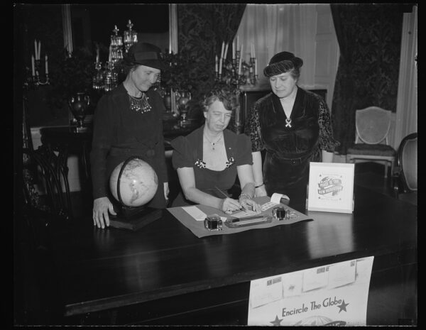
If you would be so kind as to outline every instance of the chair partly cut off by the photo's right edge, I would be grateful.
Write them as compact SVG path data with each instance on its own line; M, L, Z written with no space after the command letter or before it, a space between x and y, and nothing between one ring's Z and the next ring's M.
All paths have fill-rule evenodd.
M417 205L417 133L401 141L392 179L395 197Z

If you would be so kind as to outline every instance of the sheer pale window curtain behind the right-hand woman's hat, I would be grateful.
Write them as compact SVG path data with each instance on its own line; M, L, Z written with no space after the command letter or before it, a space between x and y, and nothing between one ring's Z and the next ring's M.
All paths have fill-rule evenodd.
M237 35L243 59L249 62L253 43L258 59L258 83L269 88L263 69L276 53L288 51L302 58L302 87L315 86L316 4L247 4Z

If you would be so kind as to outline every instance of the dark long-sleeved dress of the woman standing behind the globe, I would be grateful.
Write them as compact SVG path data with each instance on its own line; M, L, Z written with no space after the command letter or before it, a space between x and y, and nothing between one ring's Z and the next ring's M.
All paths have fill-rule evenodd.
M123 84L105 94L94 113L94 131L90 163L93 197L109 197L109 176L127 158L137 155L151 165L158 176L158 189L148 207L165 208L163 182L168 182L165 165L163 112L160 95L146 92L151 111L142 113L130 109L129 96Z

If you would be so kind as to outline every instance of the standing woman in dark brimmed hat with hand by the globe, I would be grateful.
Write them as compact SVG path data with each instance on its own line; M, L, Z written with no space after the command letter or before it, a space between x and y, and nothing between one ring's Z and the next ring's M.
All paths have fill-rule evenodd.
M109 212L116 214L109 192L109 175L127 158L138 155L158 176L158 189L147 204L163 209L168 196L164 155L163 99L151 87L157 82L163 62L160 48L136 43L121 61L124 82L105 94L94 113L92 152L93 224L109 226Z

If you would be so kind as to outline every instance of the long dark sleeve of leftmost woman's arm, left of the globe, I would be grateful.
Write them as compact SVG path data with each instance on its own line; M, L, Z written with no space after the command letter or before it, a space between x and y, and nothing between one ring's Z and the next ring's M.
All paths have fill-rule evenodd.
M106 94L98 102L93 118L92 151L90 171L92 174L93 197L108 195L107 155L114 134L113 106L111 96Z

